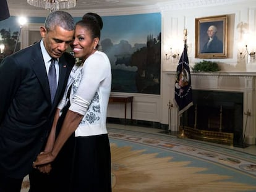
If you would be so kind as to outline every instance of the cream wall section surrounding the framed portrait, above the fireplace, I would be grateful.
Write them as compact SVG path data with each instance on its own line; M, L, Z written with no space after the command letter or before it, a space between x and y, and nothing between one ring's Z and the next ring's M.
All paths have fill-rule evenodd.
M189 3L190 2L190 3ZM171 62L166 60L164 54L168 53L169 48L181 50L183 46L183 30L186 27L188 30L187 44L189 64L192 67L195 62L202 59L195 58L195 19L200 17L208 17L213 15L229 15L228 17L228 58L227 59L206 59L207 61L216 61L221 65L221 70L224 72L230 71L247 71L245 61L240 61L239 53L237 52L237 43L239 41L239 33L237 25L240 22L249 23L249 30L255 30L256 22L256 2L251 1L186 1L183 3L168 4L162 6L162 78L161 78L161 116L160 122L168 122L168 99L173 102L174 88L169 87L169 83L173 82L174 78L168 75L168 72L175 71L177 60ZM256 34L255 34L256 36ZM178 39L178 41L177 41ZM174 45L173 41L174 40ZM256 47L255 47L256 48ZM255 64L256 65L256 64ZM256 71L256 70L255 70ZM167 72L167 73L166 73ZM193 85L192 85L193 88ZM174 107L174 120L176 120L177 109ZM177 129L176 125L174 130Z

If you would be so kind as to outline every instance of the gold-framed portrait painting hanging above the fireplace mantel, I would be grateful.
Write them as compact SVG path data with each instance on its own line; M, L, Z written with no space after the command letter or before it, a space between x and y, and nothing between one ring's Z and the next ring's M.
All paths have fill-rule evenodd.
M227 31L227 15L195 19L195 57L226 58Z

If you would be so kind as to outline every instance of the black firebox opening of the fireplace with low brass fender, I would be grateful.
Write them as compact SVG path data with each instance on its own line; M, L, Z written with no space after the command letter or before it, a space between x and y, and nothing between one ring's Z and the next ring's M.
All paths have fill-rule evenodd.
M242 146L243 93L193 90L194 106L181 116L187 135L200 140Z

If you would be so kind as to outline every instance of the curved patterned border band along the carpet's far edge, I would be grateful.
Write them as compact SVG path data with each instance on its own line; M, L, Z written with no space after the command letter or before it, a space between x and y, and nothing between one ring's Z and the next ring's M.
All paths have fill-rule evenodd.
M252 154L229 149L225 146L220 147L203 141L181 139L171 135L156 135L117 128L108 128L108 132L109 138L179 152L205 161L215 162L256 177L256 156Z

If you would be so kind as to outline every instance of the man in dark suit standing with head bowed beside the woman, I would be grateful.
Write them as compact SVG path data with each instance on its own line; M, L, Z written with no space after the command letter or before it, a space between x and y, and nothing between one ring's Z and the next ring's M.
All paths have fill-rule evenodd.
M1 192L20 191L23 177L32 172L33 161L45 147L56 106L75 64L75 58L66 52L74 25L69 13L51 12L40 27L42 40L0 64ZM48 80L52 59L57 89L53 101Z

